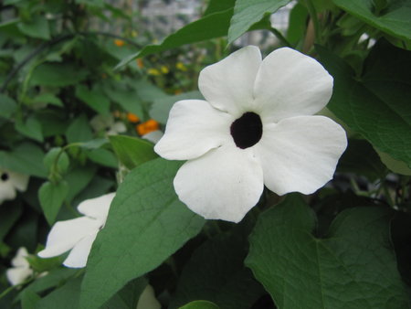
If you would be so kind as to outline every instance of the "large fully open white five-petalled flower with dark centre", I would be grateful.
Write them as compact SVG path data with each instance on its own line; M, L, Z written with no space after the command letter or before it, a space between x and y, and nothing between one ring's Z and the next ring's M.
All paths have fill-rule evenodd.
M315 59L279 48L262 60L248 46L203 69L198 86L206 101L177 101L154 147L188 160L174 189L195 213L238 222L264 185L311 194L332 179L347 140L339 124L313 116L332 95Z

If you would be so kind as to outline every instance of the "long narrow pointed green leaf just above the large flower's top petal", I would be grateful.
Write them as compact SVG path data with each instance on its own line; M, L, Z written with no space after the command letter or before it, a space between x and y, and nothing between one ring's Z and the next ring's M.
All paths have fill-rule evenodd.
M233 16L232 8L204 16L185 27L182 27L174 32L174 34L165 37L160 45L146 46L129 58L123 59L114 69L120 69L136 58L160 53L164 50L177 48L185 44L205 41L210 38L224 37L227 35L231 16Z

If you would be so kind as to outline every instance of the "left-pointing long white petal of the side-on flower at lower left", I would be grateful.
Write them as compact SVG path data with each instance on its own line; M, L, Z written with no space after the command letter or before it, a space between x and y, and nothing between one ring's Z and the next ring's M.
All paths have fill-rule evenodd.
M58 221L47 236L46 248L37 253L40 258L52 258L72 249L80 240L100 229L101 223L88 217Z

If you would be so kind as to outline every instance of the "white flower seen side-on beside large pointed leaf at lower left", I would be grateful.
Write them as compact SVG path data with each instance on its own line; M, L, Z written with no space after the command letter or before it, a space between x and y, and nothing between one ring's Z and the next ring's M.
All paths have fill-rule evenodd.
M48 233L46 248L38 256L51 258L71 250L63 264L73 268L86 266L91 245L106 223L114 196L115 193L109 193L82 201L78 209L84 216L58 221Z

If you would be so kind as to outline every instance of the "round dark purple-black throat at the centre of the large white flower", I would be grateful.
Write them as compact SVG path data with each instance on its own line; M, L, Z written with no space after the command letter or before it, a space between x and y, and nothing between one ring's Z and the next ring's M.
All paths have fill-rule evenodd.
M245 112L234 123L231 123L230 133L238 148L251 147L261 139L261 119L255 112Z

